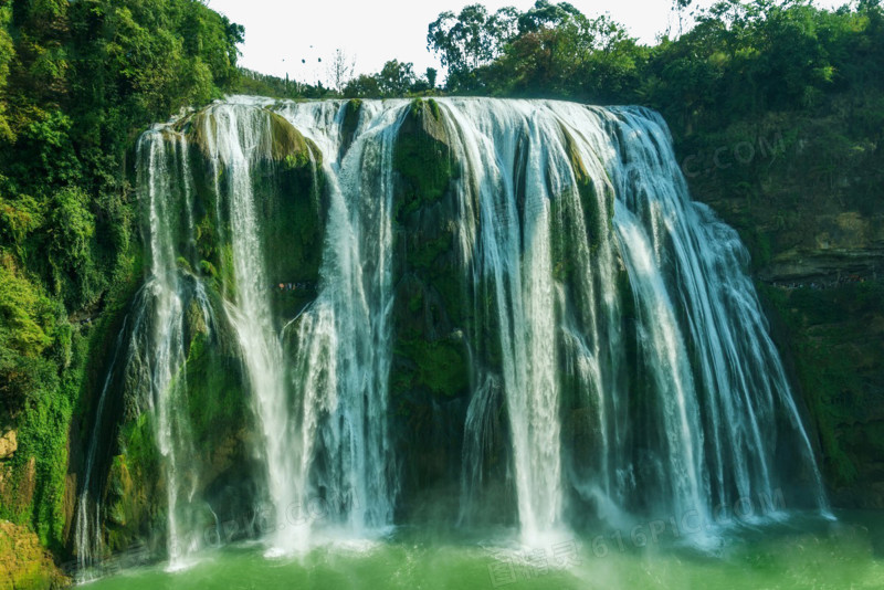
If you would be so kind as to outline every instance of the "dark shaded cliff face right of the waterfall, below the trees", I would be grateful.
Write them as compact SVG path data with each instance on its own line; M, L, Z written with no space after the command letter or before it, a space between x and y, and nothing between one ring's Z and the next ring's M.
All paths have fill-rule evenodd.
M884 149L842 106L827 119L771 115L687 139L682 162L694 198L753 253L833 504L882 508Z

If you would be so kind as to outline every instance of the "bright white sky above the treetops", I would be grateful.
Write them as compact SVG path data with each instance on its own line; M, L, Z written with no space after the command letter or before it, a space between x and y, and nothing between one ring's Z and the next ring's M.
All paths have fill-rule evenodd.
M633 36L645 43L678 21L672 0L570 0L583 14L608 12L624 24ZM490 12L504 6L526 11L534 0L209 0L210 8L245 27L240 65L264 74L299 82L328 81L327 66L335 50L344 50L356 61L357 73L379 72L388 60L413 62L414 73L427 67L440 70L427 50L427 28L440 12L455 14L472 3L484 4ZM846 0L817 0L817 6L836 7ZM712 0L699 0L708 6ZM322 59L323 63L318 63ZM306 61L306 64L302 63Z

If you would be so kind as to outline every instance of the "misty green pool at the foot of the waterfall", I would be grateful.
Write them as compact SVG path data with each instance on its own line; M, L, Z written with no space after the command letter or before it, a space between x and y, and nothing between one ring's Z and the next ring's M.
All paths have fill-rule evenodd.
M884 513L839 513L835 523L792 518L713 538L652 539L649 527L560 537L532 549L398 530L299 558L264 557L257 544L204 554L189 569L136 568L88 584L140 589L854 589L884 588ZM643 547L636 547L641 545Z

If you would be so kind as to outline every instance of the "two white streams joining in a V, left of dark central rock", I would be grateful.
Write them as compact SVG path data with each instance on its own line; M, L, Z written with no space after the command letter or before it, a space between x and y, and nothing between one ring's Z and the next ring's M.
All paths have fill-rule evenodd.
M323 154L337 155L340 134L332 117L338 109L329 106L287 105L281 114ZM341 498L350 508L360 506L344 515L351 531L382 528L392 519L386 425L392 303L389 160L398 115L386 116L364 129L341 161L324 165L329 207L319 294L282 327L267 298L265 260L274 253L263 250L252 190L255 159L272 158L270 119L250 105L219 105L203 119L213 166L227 173L225 188L218 189L227 194L231 220L235 293L227 312L262 425L272 554L308 546L311 527L292 525L313 501ZM314 177L320 173L316 161L311 167ZM294 350L286 345L291 333L298 344Z

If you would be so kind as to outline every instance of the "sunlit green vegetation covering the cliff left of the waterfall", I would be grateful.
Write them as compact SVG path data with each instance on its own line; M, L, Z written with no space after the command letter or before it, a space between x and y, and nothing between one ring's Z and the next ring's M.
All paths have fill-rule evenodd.
M0 2L0 519L56 551L83 393L140 275L134 139L235 84L242 35L193 0Z

